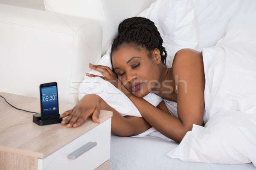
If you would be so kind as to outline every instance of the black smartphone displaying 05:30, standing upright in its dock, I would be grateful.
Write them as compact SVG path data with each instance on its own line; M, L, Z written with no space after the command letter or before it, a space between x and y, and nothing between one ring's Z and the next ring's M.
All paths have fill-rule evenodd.
M58 109L57 82L40 85L41 119L54 119L60 116Z

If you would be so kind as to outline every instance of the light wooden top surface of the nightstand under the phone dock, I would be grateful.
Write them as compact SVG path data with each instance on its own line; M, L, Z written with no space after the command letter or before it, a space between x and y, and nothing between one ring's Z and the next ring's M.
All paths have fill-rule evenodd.
M16 108L40 113L40 99L0 92ZM59 113L70 110L75 104L59 102ZM20 111L0 97L0 150L37 158L45 158L70 143L88 130L99 125L88 118L81 126L67 128L60 123L39 126L32 122L34 113ZM112 117L111 111L101 110L100 122Z

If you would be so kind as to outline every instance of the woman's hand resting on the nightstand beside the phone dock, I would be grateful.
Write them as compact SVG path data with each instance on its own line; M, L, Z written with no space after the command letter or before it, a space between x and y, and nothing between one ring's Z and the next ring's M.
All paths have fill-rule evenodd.
M93 122L100 123L99 114L101 108L101 98L96 94L85 95L73 109L65 111L60 117L68 116L61 124L67 124L67 127L80 126L89 116Z

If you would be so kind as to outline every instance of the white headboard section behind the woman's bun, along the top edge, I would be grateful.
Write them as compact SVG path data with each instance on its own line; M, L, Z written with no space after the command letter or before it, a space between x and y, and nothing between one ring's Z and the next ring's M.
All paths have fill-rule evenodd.
M155 0L44 0L45 9L56 13L99 20L102 25L102 55L110 47L122 20L134 17Z

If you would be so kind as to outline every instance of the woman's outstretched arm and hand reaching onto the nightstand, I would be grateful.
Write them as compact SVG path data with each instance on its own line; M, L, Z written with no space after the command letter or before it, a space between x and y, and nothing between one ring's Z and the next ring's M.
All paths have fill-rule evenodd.
M65 111L60 116L64 119L61 124L67 127L80 126L89 116L93 122L99 123L100 110L112 111L111 132L118 136L135 136L143 133L151 126L142 118L136 116L123 117L96 94L85 95L73 109Z

